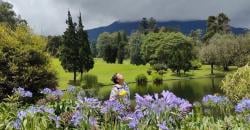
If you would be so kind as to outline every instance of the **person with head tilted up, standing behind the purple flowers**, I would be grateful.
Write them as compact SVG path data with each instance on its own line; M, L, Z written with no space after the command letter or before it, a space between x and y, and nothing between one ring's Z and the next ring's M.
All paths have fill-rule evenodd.
M123 75L120 73L115 73L112 76L111 80L115 85L111 90L109 100L119 100L129 104L130 102L129 87L124 82Z

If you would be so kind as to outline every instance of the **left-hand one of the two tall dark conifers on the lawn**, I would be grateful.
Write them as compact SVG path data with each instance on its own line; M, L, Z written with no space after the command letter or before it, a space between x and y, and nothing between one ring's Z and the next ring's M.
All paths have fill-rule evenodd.
M68 11L68 20L66 21L68 28L63 34L63 44L61 46L60 61L62 67L74 72L74 83L76 83L76 72L79 70L79 42L76 35L76 24L73 23L70 11Z

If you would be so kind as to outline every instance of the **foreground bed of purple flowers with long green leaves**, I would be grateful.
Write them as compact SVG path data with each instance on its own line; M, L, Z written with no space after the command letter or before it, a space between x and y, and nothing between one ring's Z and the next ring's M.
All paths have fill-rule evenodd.
M32 93L18 88L0 103L0 129L247 129L250 99L233 104L225 96L207 95L202 102L189 103L173 93L140 96L135 107L126 100L99 101L85 97L70 86L66 92L45 88L35 105L23 98ZM63 94L68 98L61 100ZM124 95L120 95L124 96ZM235 106L234 106L235 105Z

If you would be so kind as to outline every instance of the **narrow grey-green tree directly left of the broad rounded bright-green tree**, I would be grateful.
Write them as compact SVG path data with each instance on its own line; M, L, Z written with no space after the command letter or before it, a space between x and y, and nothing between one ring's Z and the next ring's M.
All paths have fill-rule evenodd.
M135 65L145 65L146 62L141 53L142 35L138 32L131 34L130 45L130 63Z

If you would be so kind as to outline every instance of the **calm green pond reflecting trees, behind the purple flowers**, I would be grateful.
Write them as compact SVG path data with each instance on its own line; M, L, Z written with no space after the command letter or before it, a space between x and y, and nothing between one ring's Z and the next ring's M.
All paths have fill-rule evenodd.
M185 80L168 80L162 85L156 86L148 83L147 86L136 86L135 83L128 84L131 92L131 99L135 93L140 95L161 93L163 90L173 92L176 96L187 99L190 102L200 101L207 94L222 94L219 86L223 78L199 78ZM97 90L96 94L102 100L109 98L112 86L104 86Z

